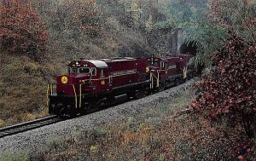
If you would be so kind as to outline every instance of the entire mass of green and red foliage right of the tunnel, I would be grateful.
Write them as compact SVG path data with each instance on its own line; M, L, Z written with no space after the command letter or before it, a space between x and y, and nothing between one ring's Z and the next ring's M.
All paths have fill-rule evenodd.
M210 67L196 84L193 111L210 120L226 118L253 136L256 118L256 9L253 1L173 1L172 23L195 42L201 61ZM174 16L173 16L174 15Z

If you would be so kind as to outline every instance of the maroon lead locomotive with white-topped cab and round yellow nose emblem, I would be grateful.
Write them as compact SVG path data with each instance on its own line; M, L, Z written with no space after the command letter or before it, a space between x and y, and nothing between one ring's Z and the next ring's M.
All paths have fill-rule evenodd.
M112 100L140 94L149 86L144 58L73 60L68 74L49 84L49 113L73 116Z

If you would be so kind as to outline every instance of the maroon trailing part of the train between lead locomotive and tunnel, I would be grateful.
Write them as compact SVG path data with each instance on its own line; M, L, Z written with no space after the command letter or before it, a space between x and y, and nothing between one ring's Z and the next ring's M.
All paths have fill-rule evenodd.
M178 55L176 57L148 58L150 89L163 90L172 85L183 83L195 74L193 56Z

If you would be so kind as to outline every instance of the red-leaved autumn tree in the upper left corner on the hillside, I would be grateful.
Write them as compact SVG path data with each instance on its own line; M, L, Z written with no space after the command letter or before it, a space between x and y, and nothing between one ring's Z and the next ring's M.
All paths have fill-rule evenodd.
M3 0L0 13L0 47L31 54L45 49L48 34L29 1Z

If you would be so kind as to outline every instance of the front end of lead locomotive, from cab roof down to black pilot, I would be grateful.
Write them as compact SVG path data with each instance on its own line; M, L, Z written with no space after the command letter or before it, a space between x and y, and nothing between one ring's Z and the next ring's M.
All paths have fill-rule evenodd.
M49 95L49 113L62 116L83 112L82 106L111 88L108 76L108 65L102 60L73 60L67 74L57 77L56 92Z

